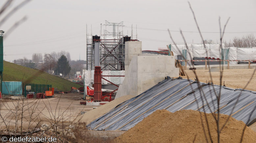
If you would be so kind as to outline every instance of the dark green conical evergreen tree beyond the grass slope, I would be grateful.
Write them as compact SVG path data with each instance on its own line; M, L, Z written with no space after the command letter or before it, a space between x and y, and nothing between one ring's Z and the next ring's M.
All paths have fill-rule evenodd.
M65 55L62 55L58 59L56 71L66 76L70 72L70 70L71 70L71 67L67 61L67 57Z

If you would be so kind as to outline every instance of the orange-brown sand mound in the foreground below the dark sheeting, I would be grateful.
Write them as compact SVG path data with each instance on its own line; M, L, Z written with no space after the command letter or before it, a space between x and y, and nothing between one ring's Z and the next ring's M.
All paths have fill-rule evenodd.
M202 114L203 115L203 114ZM213 142L217 142L216 122L211 114L207 114L210 133ZM227 115L221 114L220 125L223 125ZM206 126L205 120L203 121ZM221 131L221 143L239 143L243 132L244 123L231 117ZM208 142L210 141L207 133ZM196 136L196 137L195 137ZM173 143L206 142L203 132L200 113L193 110L182 110L171 113L167 110L157 110L136 126L117 137L117 142L173 142ZM256 133L246 127L243 143L255 143Z

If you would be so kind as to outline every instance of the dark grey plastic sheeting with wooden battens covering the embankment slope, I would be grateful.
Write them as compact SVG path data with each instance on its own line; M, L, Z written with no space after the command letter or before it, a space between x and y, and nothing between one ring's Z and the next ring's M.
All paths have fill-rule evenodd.
M87 127L92 130L128 130L159 109L170 112L191 109L218 113L216 95L219 93L221 114L232 115L248 126L255 122L256 112L251 113L256 106L256 94L253 92L166 77L147 91L92 121Z

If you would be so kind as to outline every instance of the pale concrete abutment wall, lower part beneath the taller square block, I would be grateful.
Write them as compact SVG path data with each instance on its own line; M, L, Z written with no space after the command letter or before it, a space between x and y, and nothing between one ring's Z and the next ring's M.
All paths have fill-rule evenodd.
M119 86L115 98L137 96L164 80L166 76L179 76L179 69L174 65L174 56L138 55L133 56L128 69L126 68L124 82Z

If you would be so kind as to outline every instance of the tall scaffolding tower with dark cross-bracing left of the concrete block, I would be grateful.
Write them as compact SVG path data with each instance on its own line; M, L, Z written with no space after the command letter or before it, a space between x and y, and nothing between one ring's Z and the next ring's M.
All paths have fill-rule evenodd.
M101 30L102 26L105 26L103 33ZM132 39L127 35L123 35L123 27L123 22L111 23L105 21L104 25L101 24L99 36L93 36L92 30L91 33L87 33L87 70L94 70L95 43L99 43L100 66L102 70L124 70L125 42Z

